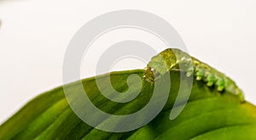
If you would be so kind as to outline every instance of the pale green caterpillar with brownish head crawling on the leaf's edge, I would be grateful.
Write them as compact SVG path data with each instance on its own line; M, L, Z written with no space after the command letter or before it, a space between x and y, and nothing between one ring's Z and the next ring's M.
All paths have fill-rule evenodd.
M244 102L244 94L235 81L177 48L167 48L154 56L148 62L143 78L153 83L159 76L171 70L182 70L186 76L194 76L195 81L204 81L207 87L214 87L218 92L230 92Z

